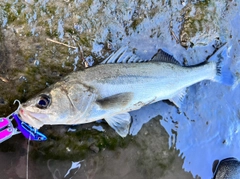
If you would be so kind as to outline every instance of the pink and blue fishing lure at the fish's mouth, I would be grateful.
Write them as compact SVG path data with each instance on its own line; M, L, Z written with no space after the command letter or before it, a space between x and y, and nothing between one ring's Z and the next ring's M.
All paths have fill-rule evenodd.
M17 123L16 128L12 124L13 119ZM0 118L0 143L19 133L22 133L27 139L33 141L47 140L47 137L44 134L30 126L28 123L22 121L17 113L12 113L8 117Z

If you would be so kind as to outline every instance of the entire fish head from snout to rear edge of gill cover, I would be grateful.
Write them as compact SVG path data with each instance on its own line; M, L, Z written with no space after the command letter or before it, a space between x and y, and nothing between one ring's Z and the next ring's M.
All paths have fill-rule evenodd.
M18 113L22 120L37 129L44 124L82 123L94 105L96 91L81 83L66 81L50 86L20 105Z

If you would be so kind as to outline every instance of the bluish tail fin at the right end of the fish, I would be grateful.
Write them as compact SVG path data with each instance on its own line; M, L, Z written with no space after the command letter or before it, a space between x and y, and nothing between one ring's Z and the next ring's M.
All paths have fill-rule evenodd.
M231 46L227 47L225 44L208 60L217 64L214 80L229 86L234 84L234 76L230 70L231 58L228 54L230 50Z

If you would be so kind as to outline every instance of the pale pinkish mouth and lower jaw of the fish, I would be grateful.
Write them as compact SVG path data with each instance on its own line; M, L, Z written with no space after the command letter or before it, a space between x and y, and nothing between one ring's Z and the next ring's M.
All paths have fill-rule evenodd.
M44 123L41 121L41 119L42 118L44 119L47 117L47 115L45 115L45 114L30 112L30 111L24 109L23 107L20 107L18 109L18 114L20 115L21 119L24 122L28 123L29 125L31 125L34 128L37 128L37 129L39 129L40 127L42 127L44 125Z

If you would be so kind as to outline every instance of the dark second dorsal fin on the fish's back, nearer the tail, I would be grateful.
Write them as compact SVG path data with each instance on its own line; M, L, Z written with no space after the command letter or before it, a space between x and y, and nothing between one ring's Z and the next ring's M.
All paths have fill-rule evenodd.
M159 49L158 52L152 57L151 61L173 63L175 65L181 65L172 55Z

